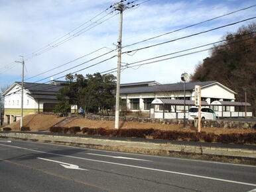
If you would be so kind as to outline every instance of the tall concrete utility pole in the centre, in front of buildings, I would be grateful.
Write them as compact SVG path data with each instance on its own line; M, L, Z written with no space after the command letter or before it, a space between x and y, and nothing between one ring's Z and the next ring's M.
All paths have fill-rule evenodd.
M122 32L123 32L123 11L127 9L123 3L115 3L115 10L119 11L119 38L117 40L117 91L115 96L115 128L119 128L119 97L120 97L120 68L122 52Z

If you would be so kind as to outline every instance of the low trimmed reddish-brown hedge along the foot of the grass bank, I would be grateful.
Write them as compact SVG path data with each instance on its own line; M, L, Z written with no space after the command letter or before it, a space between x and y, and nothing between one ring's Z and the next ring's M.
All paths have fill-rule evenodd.
M88 128L84 127L52 127L50 132L72 133L80 132L90 135L99 136L116 136L116 137L133 137L133 138L153 138L164 140L184 140L184 141L203 141L203 142L220 142L234 144L256 144L256 133L231 133L231 134L214 134L212 132L184 132L176 130L160 130L153 128Z

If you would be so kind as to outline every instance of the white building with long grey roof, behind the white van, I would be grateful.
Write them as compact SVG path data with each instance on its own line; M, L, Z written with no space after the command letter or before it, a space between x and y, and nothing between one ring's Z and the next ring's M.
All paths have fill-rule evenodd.
M211 107L218 113L219 117L244 117L244 113L235 112L235 106L241 107L245 103L235 102L235 91L232 91L228 87L225 87L218 81L194 81L186 83L186 89L184 91L184 83L172 83L160 85L156 81L146 81L139 83L127 83L121 85L121 99L126 103L127 109L131 111L141 111L143 113L149 113L151 108L154 108L155 112L163 111L162 105L153 107L151 105L154 99L176 99L176 104L168 105L164 108L164 112L180 113L184 112L184 93L185 99L188 101L194 101L195 85L202 87L201 99L208 103L208 107ZM225 101L214 103L214 101ZM174 102L175 103L175 102ZM180 103L180 104L177 104ZM186 111L192 106L191 103L186 105ZM207 103L204 103L207 105ZM211 105L213 103L213 105ZM247 103L247 106L250 106ZM239 111L239 109L236 109ZM233 113L233 115L231 114ZM247 113L247 117L252 113ZM178 119L182 119L182 114L172 115Z

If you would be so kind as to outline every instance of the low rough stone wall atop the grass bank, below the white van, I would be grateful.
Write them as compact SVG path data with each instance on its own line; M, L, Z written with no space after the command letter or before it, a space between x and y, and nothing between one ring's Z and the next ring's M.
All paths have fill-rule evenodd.
M86 115L86 119L90 120L115 120L113 116L100 116L100 115ZM183 119L150 119L143 117L120 117L122 121L131 122L151 122L161 124L183 124ZM188 126L194 126L194 120L186 120ZM228 120L202 120L202 127L216 127L216 128L254 128L256 129L255 122L241 122L241 121L228 121Z

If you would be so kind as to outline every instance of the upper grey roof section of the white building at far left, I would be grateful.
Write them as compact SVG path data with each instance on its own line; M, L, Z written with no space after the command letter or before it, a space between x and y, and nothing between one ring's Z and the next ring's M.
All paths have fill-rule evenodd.
M21 82L15 82L21 85ZM52 84L43 84L43 83L27 83L24 82L24 88L29 91L48 91L48 92L58 92L60 88L64 87L63 85L52 85Z

